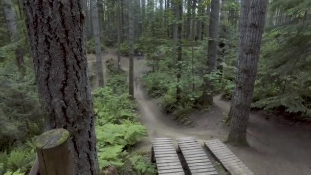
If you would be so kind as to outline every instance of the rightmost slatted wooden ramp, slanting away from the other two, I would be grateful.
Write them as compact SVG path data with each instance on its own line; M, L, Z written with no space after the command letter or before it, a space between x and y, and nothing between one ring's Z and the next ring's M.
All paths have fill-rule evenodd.
M219 139L206 141L204 145L231 175L254 175L254 173Z

